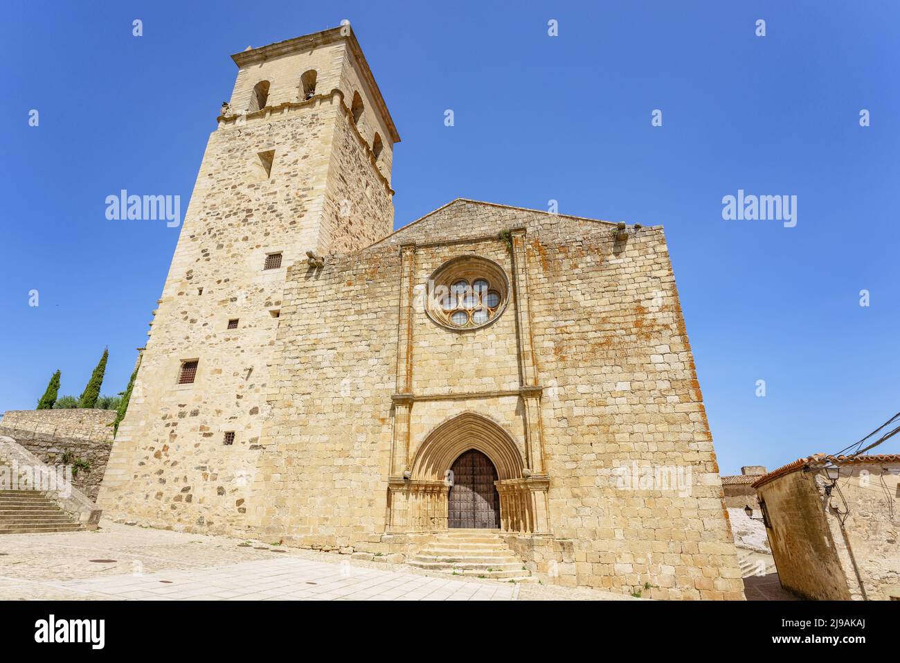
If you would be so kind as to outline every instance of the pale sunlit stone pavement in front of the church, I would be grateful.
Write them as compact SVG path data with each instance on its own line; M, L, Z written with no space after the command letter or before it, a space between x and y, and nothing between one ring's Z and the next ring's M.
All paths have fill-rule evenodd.
M99 531L0 535L0 599L631 600L256 540L101 525Z

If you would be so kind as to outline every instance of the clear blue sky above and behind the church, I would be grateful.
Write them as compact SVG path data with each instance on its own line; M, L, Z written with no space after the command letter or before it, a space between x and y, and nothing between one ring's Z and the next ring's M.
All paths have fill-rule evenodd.
M840 450L900 409L900 5L260 6L4 6L0 412L56 368L78 395L104 346L103 392L125 387L178 229L108 221L105 197L184 211L229 55L342 19L401 134L398 226L458 196L662 223L725 473ZM738 189L797 195L797 226L723 220Z

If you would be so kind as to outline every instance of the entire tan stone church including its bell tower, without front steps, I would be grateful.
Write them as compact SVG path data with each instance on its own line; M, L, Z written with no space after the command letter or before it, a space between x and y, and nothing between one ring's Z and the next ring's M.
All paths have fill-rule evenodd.
M400 137L348 26L233 56L98 499L545 583L743 598L662 227L457 199L392 232Z

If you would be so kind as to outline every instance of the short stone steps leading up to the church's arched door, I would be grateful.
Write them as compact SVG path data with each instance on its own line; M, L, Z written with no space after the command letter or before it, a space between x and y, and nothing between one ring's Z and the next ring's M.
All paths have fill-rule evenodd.
M453 530L437 534L434 541L406 563L455 576L537 582L496 530Z

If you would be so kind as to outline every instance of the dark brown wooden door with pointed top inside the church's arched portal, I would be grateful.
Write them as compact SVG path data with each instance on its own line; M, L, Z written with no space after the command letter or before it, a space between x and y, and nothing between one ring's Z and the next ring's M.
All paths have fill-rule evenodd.
M447 526L500 528L500 495L494 482L497 468L479 450L468 450L454 461L453 485L447 510Z

